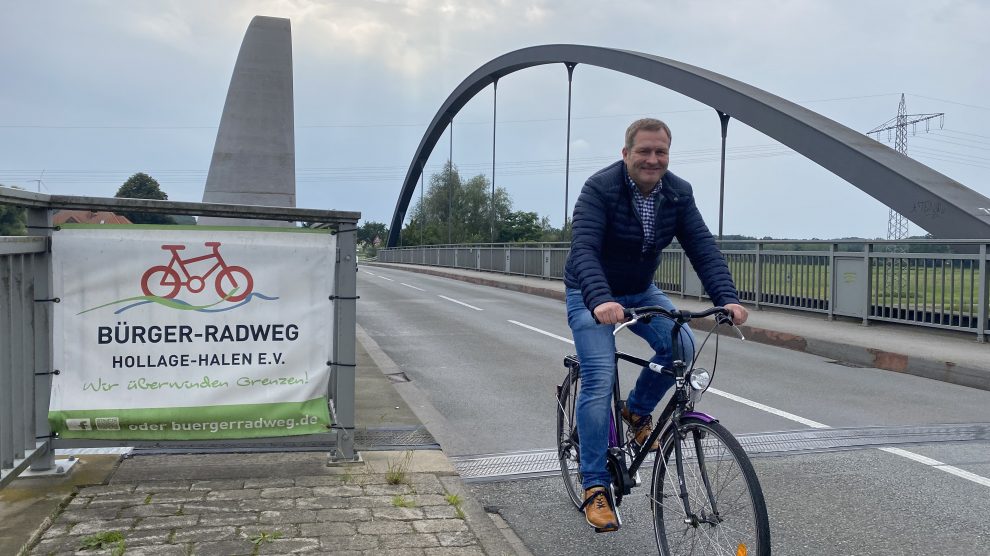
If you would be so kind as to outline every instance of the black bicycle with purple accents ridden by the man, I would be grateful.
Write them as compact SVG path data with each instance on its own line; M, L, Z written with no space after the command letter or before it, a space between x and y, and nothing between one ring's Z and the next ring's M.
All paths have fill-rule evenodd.
M670 401L663 407L653 433L643 443L644 447L649 447L660 439L649 496L660 554L769 555L770 524L766 502L749 457L718 420L694 410L711 385L715 365L711 372L694 367L693 363L689 369L684 362L684 346L679 341L679 333L691 320L711 315L716 316L716 326L708 333L698 353L720 326L731 326L725 308L714 307L697 313L668 311L663 307L626 309L629 320L616 327L614 334L636 322L648 322L658 316L673 321L673 365L662 367L616 350L607 453L612 480L609 493L621 526L619 505L622 497L641 484L639 468L649 454L648 449L638 446L632 439L620 440L624 435L619 413L622 400L618 365L619 360L623 360L673 376L675 381ZM733 330L739 333L738 329ZM739 336L742 338L741 333ZM697 357L693 361L697 361ZM576 355L565 357L564 366L567 376L557 388L557 453L567 494L580 510L584 488L575 409L581 366Z

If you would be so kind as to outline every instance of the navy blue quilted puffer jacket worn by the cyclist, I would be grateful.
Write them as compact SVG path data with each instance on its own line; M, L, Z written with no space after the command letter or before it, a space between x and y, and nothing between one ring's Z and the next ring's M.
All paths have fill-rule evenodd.
M623 161L585 182L574 205L564 285L578 288L588 309L639 293L653 281L660 252L676 237L716 305L739 303L732 274L694 203L691 184L666 172L656 200L653 246L642 251L643 224Z

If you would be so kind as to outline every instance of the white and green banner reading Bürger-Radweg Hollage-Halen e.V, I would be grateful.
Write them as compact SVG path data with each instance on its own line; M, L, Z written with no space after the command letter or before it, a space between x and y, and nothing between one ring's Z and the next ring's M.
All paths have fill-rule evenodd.
M56 232L52 429L116 440L326 432L336 237L275 230Z

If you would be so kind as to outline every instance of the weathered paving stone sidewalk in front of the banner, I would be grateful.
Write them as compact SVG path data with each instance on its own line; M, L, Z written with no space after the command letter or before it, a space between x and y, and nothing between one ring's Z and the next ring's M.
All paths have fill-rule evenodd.
M126 460L110 484L80 489L28 554L116 554L114 541L83 550L113 532L127 555L514 553L452 469L421 472L417 452L420 462L390 476L405 453L377 454L378 465L329 467L317 453L228 455L242 466L228 474L242 476L219 480L137 480L141 469L129 462L158 462ZM185 477L209 476L217 457L168 456Z

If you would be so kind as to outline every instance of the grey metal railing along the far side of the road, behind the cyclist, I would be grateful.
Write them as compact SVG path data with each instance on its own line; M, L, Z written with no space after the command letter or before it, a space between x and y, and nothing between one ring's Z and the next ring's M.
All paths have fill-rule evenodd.
M722 242L740 299L828 318L990 333L984 240ZM382 262L445 266L563 279L567 243L431 245L382 249ZM655 282L669 293L704 297L679 246L665 249Z

